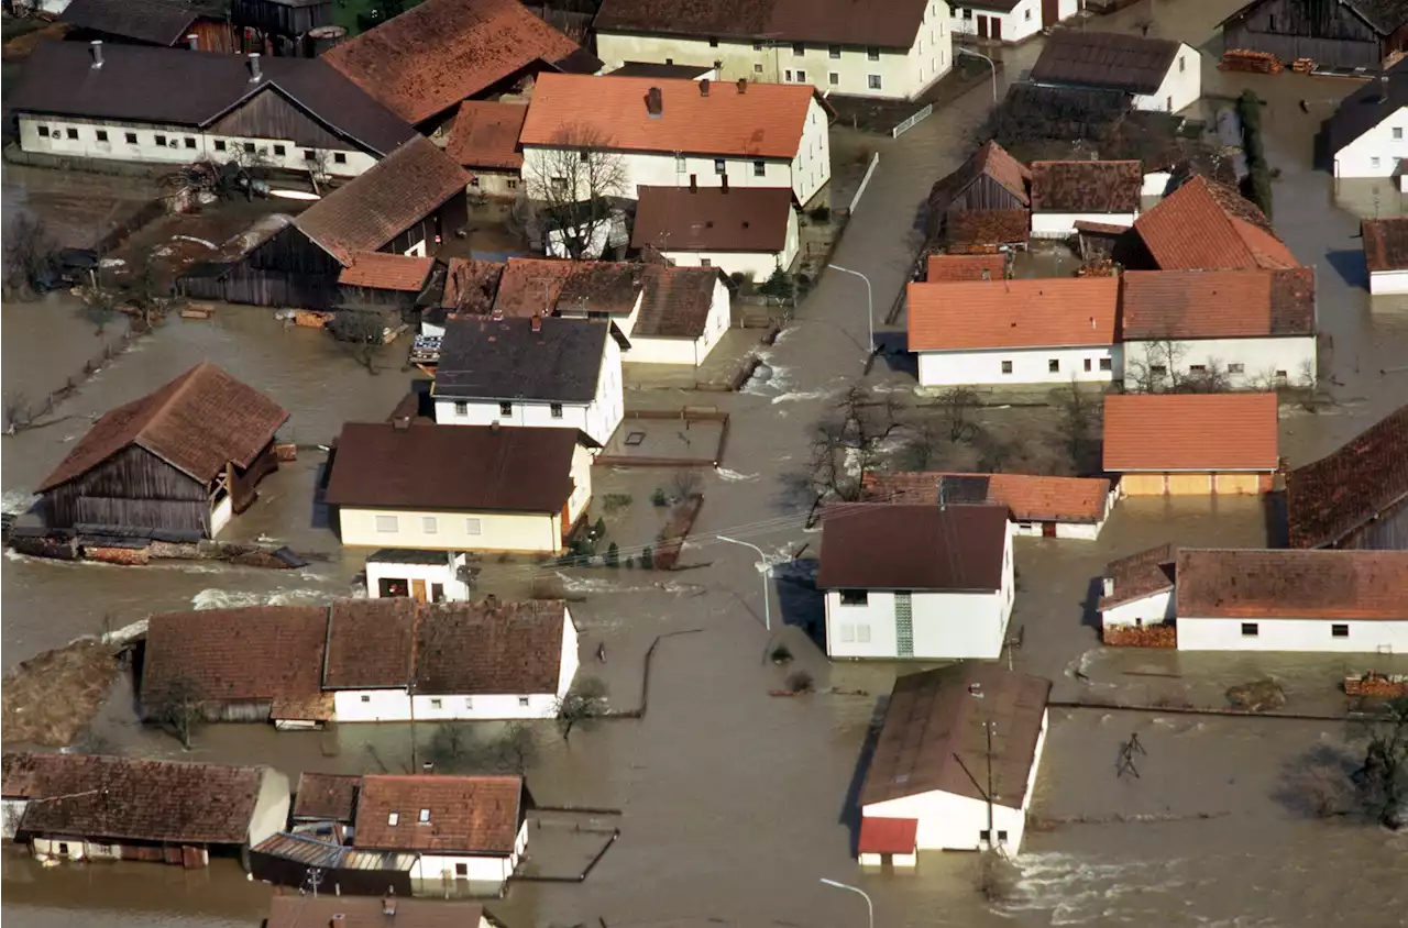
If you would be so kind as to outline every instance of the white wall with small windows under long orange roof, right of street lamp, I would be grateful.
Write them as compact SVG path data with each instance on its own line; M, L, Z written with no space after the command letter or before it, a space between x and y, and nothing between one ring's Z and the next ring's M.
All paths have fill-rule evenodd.
M922 351L919 355L919 386L941 387L970 383L1110 383L1124 370L1119 345L1088 348L1000 348L983 351ZM1101 370L1101 359L1110 369ZM1012 373L1002 373L1002 362L1012 362ZM1050 370L1057 360L1060 369ZM1090 370L1086 370L1090 360Z

